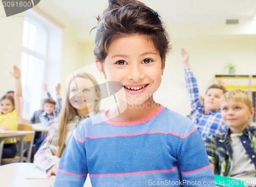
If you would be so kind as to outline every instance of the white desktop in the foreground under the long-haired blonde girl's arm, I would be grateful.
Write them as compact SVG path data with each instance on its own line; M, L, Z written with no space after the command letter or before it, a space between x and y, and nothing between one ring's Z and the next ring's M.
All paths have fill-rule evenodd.
M0 166L1 187L49 187L54 178L47 178L46 174L39 170L38 178L31 178L30 173L39 170L34 163L9 163ZM90 177L87 178L83 187L92 187Z

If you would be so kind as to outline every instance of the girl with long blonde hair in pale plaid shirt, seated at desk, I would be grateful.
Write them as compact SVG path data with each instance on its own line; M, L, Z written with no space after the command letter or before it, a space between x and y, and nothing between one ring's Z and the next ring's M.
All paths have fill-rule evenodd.
M68 83L67 99L46 141L34 156L35 165L56 175L60 157L73 130L83 119L100 112L100 88L95 78L78 73Z

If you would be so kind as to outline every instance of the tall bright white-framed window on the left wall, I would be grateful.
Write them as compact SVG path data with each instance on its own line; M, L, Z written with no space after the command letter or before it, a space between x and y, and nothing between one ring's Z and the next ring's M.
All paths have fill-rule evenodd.
M42 84L47 83L50 88L60 80L61 33L61 29L35 12L30 11L25 17L21 65L25 119L41 109L41 100L46 97Z

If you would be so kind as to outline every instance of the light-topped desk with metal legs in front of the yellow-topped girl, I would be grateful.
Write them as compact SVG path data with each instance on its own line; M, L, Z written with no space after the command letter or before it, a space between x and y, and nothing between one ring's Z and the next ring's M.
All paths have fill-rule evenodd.
M3 148L4 148L4 144L6 139L8 138L16 138L16 137L20 137L20 142L19 142L19 157L20 157L20 162L23 162L23 149L24 149L24 137L28 134L32 134L32 139L34 139L34 131L21 131L18 130L16 132L13 133L0 133L0 165L1 165L1 159L2 159L2 154L3 154ZM31 141L33 144L33 141Z

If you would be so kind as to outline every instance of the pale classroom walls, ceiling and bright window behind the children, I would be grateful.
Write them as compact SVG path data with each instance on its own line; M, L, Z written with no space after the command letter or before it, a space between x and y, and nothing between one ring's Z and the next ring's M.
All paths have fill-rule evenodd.
M256 1L142 2L159 12L172 44L156 101L182 115L190 113L182 47L189 51L202 96L208 85L215 83L215 75L228 75L229 62L236 64L234 75L256 75ZM9 72L18 65L23 74L23 118L29 120L33 111L40 109L41 99L46 97L43 83L48 84L53 98L60 83L64 99L66 78L79 68L94 66L92 29L106 4L106 0L42 0L36 7L10 17L0 6L0 93L14 89ZM238 24L230 21L234 19ZM103 103L101 108L106 106Z

